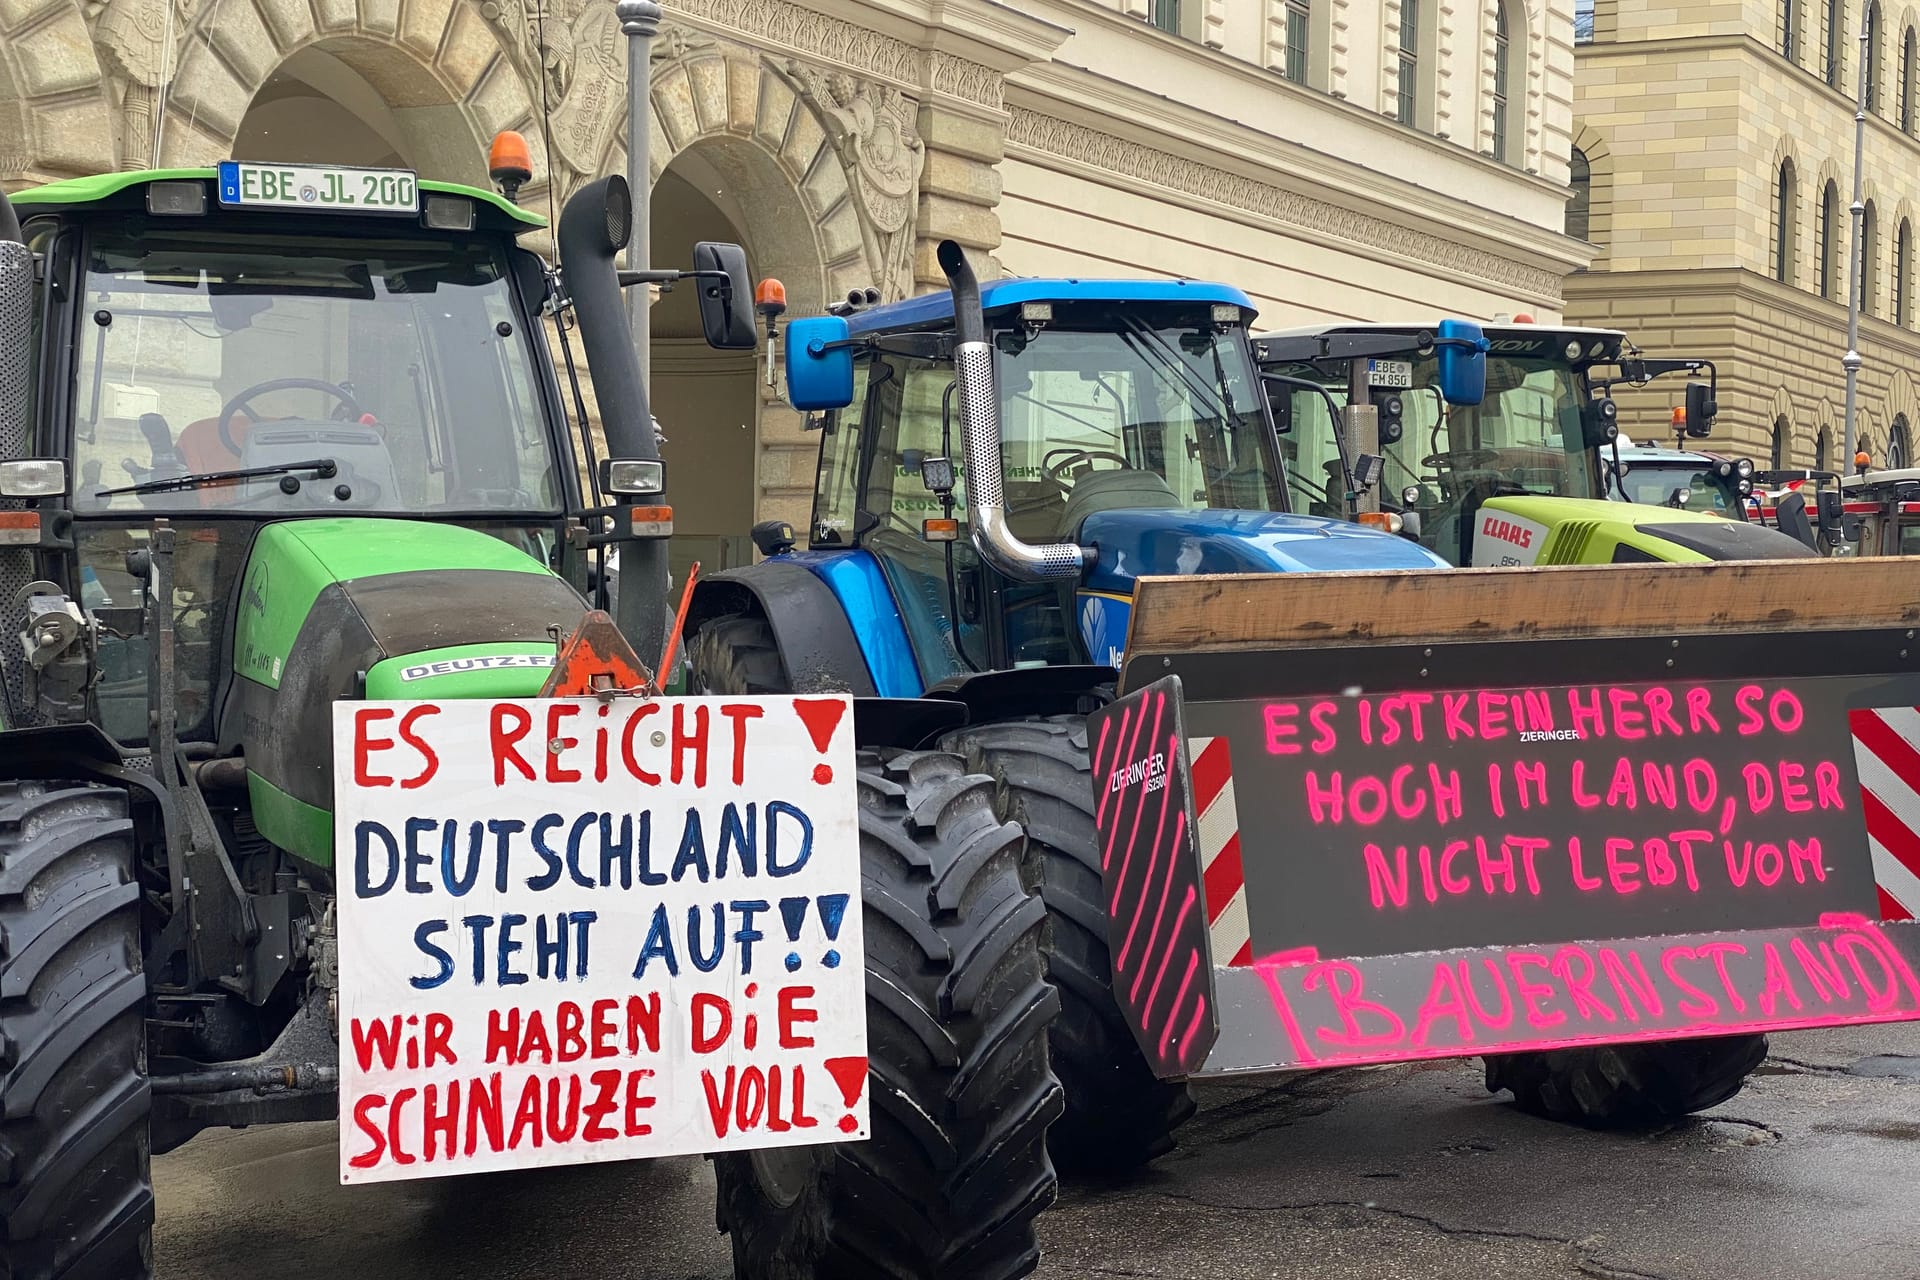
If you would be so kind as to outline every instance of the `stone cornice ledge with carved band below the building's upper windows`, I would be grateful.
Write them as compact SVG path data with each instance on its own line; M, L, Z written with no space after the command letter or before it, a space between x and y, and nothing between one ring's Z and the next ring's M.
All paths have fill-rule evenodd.
M1242 150L1242 127L1229 125L1231 132L1221 130L1225 136L1210 136L1213 130L1192 129L1187 121L1162 121L1160 129L1133 127L1131 136L1125 136L1110 130L1127 129L1135 113L1098 117L1104 125L1100 129L1071 119L1073 104L1044 104L1050 111L1035 106L1041 106L1037 98L1016 92L1008 121L1010 155L1025 152L1029 159L1079 165L1094 180L1121 175L1162 192L1277 223L1329 248L1357 248L1380 261L1411 259L1434 274L1511 294L1515 301L1557 309L1567 273L1586 261L1574 240L1411 184L1396 184L1361 165L1334 167L1317 154L1298 150L1248 155ZM1196 154L1212 150L1210 159L1217 163L1154 146L1154 140L1167 134L1198 144ZM1235 163L1265 177L1238 173L1229 167ZM1292 186L1271 180L1275 177ZM1427 217L1388 219L1382 217L1386 209L1425 209ZM1459 228L1461 236L1432 234L1436 223ZM1503 251L1488 249L1488 244Z

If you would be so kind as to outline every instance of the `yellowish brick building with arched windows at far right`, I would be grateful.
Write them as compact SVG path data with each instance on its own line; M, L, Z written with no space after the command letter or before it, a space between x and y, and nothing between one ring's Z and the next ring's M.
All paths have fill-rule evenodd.
M1584 23L1582 23L1584 25ZM1866 40L1859 441L1912 461L1920 10L1905 0L1594 0L1576 44L1576 225L1592 271L1567 315L1649 353L1716 361L1709 447L1839 466L1855 109ZM1678 386L1624 397L1657 422ZM1634 428L1628 428L1634 430ZM1636 432L1638 434L1638 432Z

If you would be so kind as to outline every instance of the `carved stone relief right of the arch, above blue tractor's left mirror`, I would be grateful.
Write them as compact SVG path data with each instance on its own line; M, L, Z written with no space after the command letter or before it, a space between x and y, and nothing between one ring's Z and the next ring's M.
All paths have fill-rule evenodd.
M874 278L889 296L904 296L914 280L914 203L927 157L914 132L918 106L893 84L799 59L789 59L781 75L826 125L847 171Z

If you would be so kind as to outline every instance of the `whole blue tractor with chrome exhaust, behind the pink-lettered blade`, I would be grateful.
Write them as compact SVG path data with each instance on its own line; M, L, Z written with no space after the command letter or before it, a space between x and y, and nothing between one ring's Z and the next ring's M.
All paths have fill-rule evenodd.
M1064 1169L1125 1169L1192 1111L1112 998L1085 718L1112 697L1146 574L1446 568L1419 543L1292 514L1248 344L1252 301L1190 280L1002 280L795 320L795 409L824 415L812 524L695 589L691 683L874 702L893 741L993 775L1052 919ZM1444 357L1478 399L1480 344ZM1281 390L1284 395L1286 391ZM804 547L801 545L804 541Z

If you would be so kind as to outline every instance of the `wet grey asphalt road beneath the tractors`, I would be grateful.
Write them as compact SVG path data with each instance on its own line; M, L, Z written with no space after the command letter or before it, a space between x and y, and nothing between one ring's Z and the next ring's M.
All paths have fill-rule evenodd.
M726 1280L705 1161L372 1188L334 1130L156 1161L165 1280ZM1144 1176L1069 1186L1037 1276L1920 1278L1920 1025L1799 1032L1730 1103L1613 1136L1534 1121L1476 1063L1210 1086ZM956 1278L958 1280L958 1278Z

